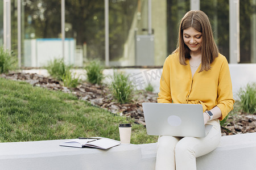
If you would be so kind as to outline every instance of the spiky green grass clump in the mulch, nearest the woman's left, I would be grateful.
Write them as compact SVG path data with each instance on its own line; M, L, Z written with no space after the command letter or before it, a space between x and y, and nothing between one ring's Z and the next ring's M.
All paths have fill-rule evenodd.
M112 95L119 103L129 103L132 99L133 84L129 80L129 76L114 72L113 81L110 84Z

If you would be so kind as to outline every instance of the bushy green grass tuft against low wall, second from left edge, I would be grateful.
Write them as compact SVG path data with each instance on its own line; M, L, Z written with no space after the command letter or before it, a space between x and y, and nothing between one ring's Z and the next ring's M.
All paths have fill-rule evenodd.
M63 80L63 77L69 73L71 66L65 65L63 59L54 59L53 61L49 61L46 66L48 73L57 80Z

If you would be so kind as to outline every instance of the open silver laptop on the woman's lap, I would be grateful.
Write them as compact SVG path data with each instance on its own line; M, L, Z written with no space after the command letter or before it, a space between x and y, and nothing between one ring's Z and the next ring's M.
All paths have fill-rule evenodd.
M204 125L201 104L142 103L148 135L205 137L212 125Z

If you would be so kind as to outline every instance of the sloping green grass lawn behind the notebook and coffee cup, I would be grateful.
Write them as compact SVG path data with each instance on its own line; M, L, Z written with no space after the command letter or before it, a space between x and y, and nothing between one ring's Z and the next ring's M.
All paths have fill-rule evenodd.
M0 78L0 142L77 137L119 140L118 124L131 123L131 143L156 142L143 125L93 107L71 94Z

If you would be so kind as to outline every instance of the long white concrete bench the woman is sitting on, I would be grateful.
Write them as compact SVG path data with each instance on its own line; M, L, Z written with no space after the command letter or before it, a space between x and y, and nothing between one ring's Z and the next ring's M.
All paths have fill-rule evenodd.
M109 150L61 147L67 140L0 143L0 169L154 169L156 143ZM256 133L221 137L197 169L256 169Z

